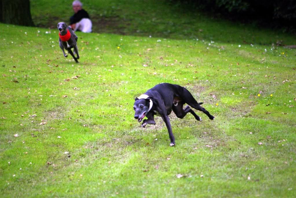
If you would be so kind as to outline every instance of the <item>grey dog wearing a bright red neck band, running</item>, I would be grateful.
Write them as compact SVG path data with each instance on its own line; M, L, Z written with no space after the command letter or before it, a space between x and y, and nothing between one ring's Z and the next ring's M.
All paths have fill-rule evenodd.
M77 48L77 40L78 37L75 35L73 30L67 26L65 22L59 22L57 24L57 29L59 30L59 47L62 49L63 54L65 57L68 55L65 54L64 48L73 56L73 59L76 63L78 63L79 54L78 54L78 48ZM72 52L71 48L74 48L74 52L77 55L77 58L74 56L74 53Z

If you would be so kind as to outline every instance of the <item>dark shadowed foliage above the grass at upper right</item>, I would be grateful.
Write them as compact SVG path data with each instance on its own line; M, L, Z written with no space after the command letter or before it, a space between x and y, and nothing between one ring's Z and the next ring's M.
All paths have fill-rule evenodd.
M169 0L184 9L202 9L231 20L296 30L296 0Z

